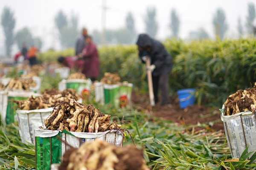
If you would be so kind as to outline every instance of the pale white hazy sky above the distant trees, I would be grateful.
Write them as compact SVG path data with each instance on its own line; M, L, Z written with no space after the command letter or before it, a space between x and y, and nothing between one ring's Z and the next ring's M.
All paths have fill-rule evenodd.
M4 6L15 12L16 28L28 26L33 34L44 39L44 48L56 44L56 30L53 18L61 9L65 13L79 15L79 26L89 31L102 28L102 0L0 0L0 13ZM180 37L186 38L189 31L204 27L213 37L212 16L216 8L224 8L229 24L228 37L236 37L237 20L240 16L244 25L247 3L256 0L106 0L107 28L118 28L125 24L128 11L134 14L137 31L143 32L145 10L148 6L157 8L158 33L163 39L170 35L170 11L176 8L181 22ZM90 32L89 32L90 33ZM3 48L3 33L0 29L0 47Z

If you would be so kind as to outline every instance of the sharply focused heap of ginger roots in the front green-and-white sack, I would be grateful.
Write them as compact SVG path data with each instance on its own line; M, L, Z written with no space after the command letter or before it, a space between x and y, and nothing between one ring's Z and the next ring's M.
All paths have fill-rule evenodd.
M121 125L110 123L110 115L100 113L93 105L83 105L75 99L55 106L44 122L47 129L68 130L71 132L105 132L120 130Z

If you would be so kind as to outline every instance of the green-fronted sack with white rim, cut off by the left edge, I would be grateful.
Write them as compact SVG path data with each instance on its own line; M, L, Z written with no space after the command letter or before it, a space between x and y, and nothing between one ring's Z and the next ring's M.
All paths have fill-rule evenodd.
M17 121L16 108L14 100L26 100L30 96L40 96L34 92L27 91L0 91L0 114L4 124L10 124Z

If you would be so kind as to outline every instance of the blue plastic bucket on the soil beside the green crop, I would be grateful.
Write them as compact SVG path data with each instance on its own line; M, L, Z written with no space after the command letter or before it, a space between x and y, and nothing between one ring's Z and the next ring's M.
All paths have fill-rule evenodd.
M186 88L177 91L180 108L184 109L195 104L195 88Z

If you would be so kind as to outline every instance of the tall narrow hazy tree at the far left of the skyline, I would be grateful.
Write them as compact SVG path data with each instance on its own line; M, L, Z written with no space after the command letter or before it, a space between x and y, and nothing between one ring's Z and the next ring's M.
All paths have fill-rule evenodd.
M14 44L15 18L14 12L12 12L8 7L3 8L1 24L3 26L3 33L5 36L6 55L10 56L12 52L12 45Z

